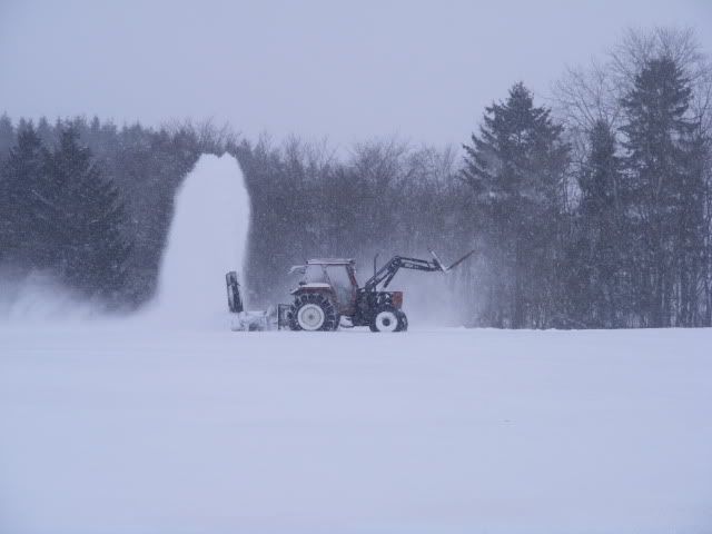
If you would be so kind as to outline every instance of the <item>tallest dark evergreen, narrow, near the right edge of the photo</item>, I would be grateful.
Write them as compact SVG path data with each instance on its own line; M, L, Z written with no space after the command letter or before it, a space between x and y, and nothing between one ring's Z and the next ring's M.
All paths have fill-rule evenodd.
M624 146L627 207L632 229L641 236L635 251L639 307L647 326L671 326L675 290L675 255L680 229L689 228L685 212L694 209L696 179L690 139L694 123L688 118L692 89L671 58L649 60L622 99L625 110ZM696 246L695 246L696 247Z

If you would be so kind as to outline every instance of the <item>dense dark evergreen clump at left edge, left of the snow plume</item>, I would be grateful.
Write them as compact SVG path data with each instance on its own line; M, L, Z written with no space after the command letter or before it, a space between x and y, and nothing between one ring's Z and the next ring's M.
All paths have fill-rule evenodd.
M0 181L0 260L116 305L131 248L123 202L78 132L58 136L48 148L32 125L18 130Z

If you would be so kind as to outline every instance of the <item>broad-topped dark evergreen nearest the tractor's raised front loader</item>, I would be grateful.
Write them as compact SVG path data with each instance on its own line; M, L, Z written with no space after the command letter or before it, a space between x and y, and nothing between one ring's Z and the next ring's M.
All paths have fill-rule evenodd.
M486 320L543 327L556 299L554 266L567 147L551 110L535 107L516 83L505 102L486 108L479 136L464 146L463 178L487 243L491 281Z

